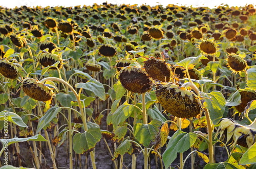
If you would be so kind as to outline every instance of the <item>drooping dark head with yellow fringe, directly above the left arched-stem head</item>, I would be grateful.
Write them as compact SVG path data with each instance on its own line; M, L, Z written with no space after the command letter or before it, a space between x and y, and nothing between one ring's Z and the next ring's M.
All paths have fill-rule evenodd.
M42 52L38 55L38 61L41 65L47 67L51 66L57 61L59 61L58 68L61 68L62 66L62 59L59 55L51 54L49 52ZM56 69L55 67L51 67L50 69Z

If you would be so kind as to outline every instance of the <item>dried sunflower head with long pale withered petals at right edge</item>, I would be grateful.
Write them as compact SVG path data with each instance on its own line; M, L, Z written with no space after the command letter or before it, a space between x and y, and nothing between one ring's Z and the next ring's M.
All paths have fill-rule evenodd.
M219 135L222 138L225 131L227 131L226 144L232 139L232 147L239 144L240 146L249 148L256 141L256 120L251 125L244 126L238 124L231 118L222 118L215 138Z

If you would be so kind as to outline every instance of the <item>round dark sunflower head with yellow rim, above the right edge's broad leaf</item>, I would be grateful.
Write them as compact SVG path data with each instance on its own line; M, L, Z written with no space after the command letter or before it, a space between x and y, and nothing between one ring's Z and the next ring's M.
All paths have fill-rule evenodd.
M238 73L239 71L245 70L247 67L246 60L242 58L240 55L236 55L234 53L231 53L227 57L227 65L230 67L233 73Z

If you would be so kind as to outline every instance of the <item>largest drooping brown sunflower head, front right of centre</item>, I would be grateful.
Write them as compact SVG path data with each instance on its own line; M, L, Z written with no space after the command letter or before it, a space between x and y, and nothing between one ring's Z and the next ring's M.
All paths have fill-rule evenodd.
M179 118L196 117L202 110L201 102L193 91L174 83L156 84L156 96L168 113Z

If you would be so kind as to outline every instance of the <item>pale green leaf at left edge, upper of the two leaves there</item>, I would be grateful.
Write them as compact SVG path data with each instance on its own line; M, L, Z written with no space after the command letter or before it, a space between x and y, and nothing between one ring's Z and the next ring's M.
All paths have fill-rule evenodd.
M18 125L20 127L28 127L22 120L18 114L4 110L0 112L0 120L8 120L8 122L11 122L15 125Z

